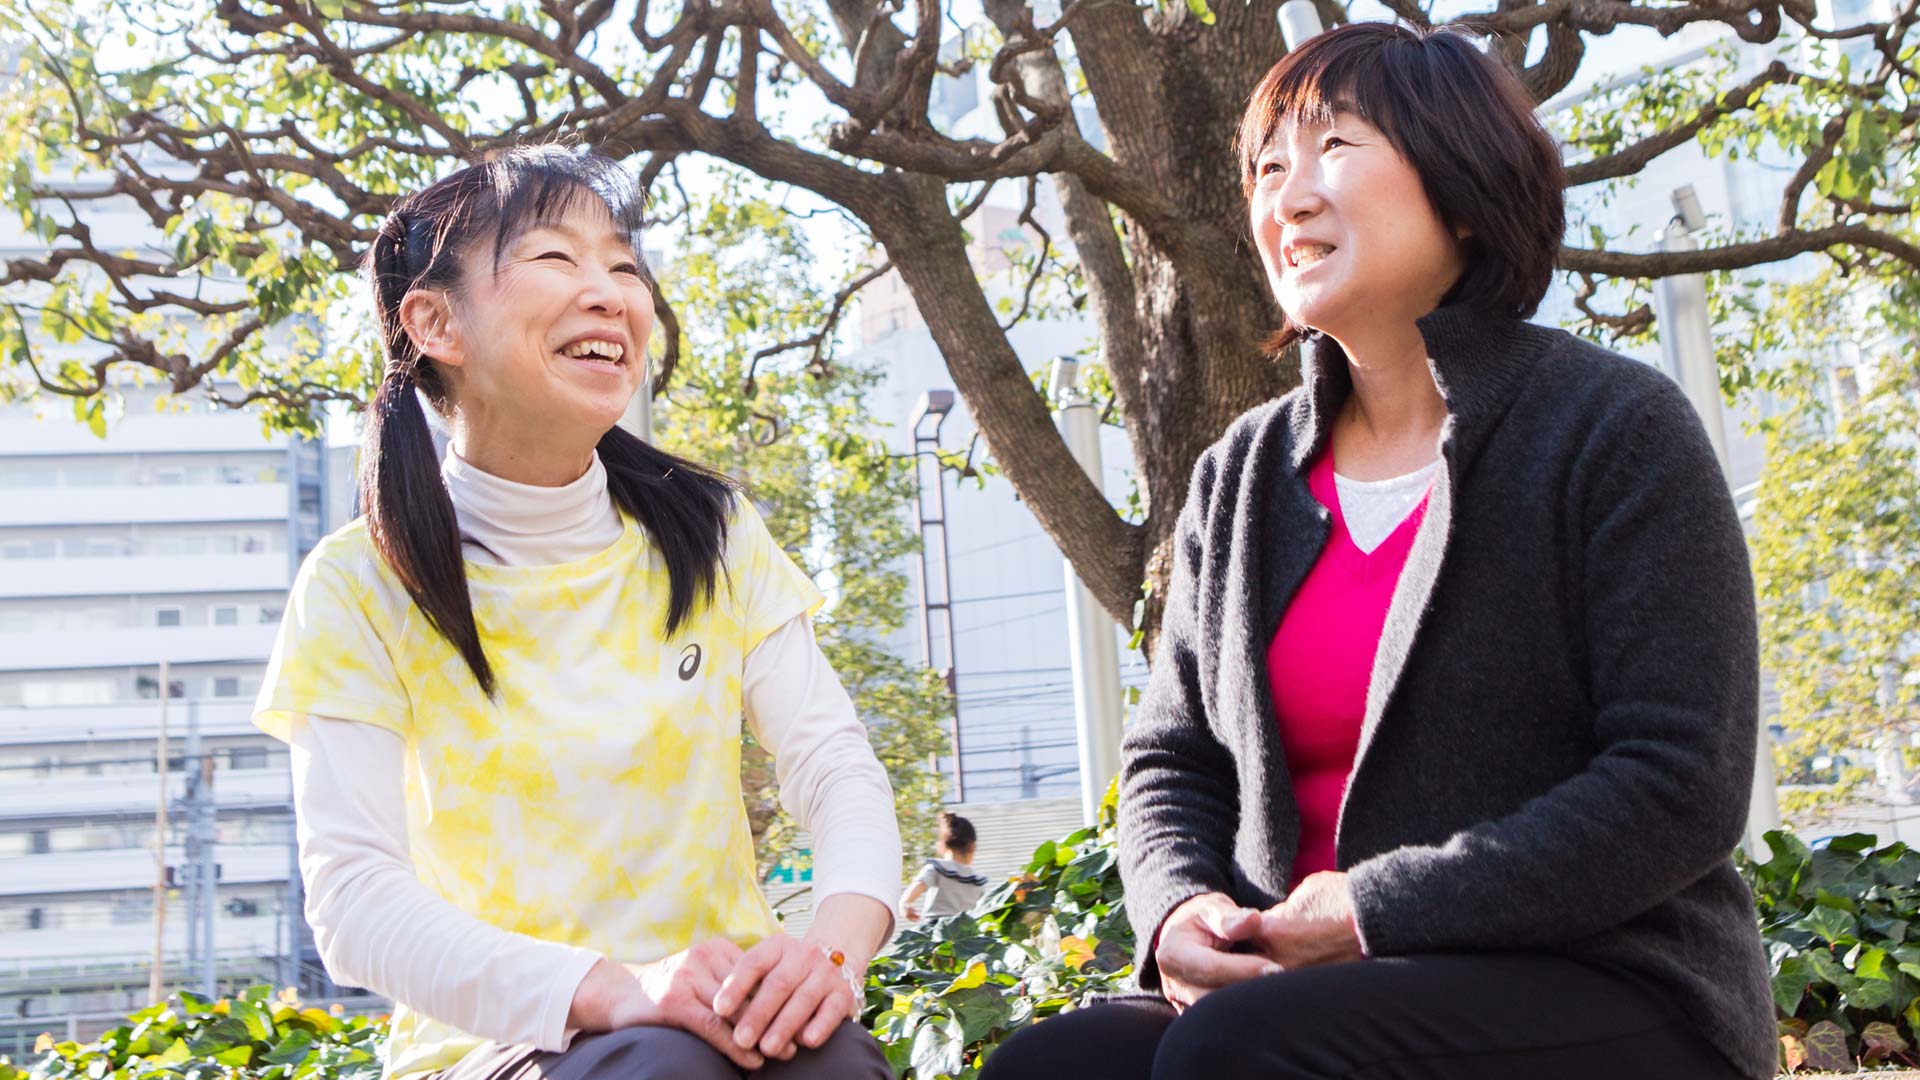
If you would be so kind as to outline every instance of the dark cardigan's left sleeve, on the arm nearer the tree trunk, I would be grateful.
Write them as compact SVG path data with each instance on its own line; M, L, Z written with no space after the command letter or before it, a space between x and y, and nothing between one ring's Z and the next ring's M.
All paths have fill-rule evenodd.
M1119 869L1140 955L1140 986L1160 986L1160 924L1187 899L1231 892L1238 778L1202 694L1200 619L1215 450L1194 465L1173 536L1173 575L1152 675L1119 761Z

